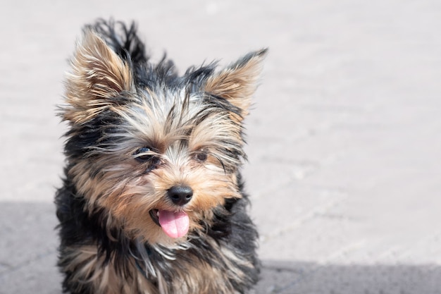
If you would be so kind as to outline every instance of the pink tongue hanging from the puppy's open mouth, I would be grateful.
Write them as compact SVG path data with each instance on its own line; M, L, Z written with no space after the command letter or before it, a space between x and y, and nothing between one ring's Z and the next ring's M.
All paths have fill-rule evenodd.
M159 210L161 228L171 238L180 238L188 232L190 220L185 212Z

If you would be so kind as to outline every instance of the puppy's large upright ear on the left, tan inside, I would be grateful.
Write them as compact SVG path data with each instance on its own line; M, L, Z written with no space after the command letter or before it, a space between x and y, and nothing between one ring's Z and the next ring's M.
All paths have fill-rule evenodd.
M63 118L84 123L99 111L118 103L121 92L132 90L132 71L104 42L97 32L86 29L77 43L70 73L66 80L66 102Z

